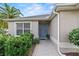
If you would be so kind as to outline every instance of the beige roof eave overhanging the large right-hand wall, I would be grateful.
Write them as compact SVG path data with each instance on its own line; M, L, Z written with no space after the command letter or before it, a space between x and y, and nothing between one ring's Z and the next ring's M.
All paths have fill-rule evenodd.
M68 5L57 5L55 8L56 12L65 11L65 10L77 10L79 9L79 4L68 4Z

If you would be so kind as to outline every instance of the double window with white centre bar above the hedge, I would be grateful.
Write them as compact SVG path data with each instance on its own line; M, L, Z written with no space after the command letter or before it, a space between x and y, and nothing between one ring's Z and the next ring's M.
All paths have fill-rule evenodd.
M17 35L30 32L30 23L17 23L16 26Z

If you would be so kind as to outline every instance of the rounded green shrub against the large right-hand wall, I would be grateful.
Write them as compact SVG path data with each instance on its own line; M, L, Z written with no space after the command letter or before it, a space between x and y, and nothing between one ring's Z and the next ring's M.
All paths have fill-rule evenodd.
M79 46L79 28L73 29L69 33L69 40L71 43L74 43L75 45Z

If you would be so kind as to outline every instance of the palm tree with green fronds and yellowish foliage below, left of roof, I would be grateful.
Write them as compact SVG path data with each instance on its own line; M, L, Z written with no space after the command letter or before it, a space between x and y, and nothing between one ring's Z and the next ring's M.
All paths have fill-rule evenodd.
M22 13L20 12L19 9L17 9L15 7L11 7L10 5L4 3L3 6L0 6L0 28L6 27L6 24L7 24L2 19L10 19L10 18L15 18L15 17L20 17L20 15L22 15ZM2 26L1 26L1 24L2 24Z

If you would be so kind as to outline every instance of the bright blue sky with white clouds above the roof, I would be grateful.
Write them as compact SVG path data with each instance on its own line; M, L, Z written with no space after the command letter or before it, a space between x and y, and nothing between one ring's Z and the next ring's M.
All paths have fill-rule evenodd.
M52 3L8 3L14 6L26 16L50 14L55 7ZM0 4L1 5L1 4Z

